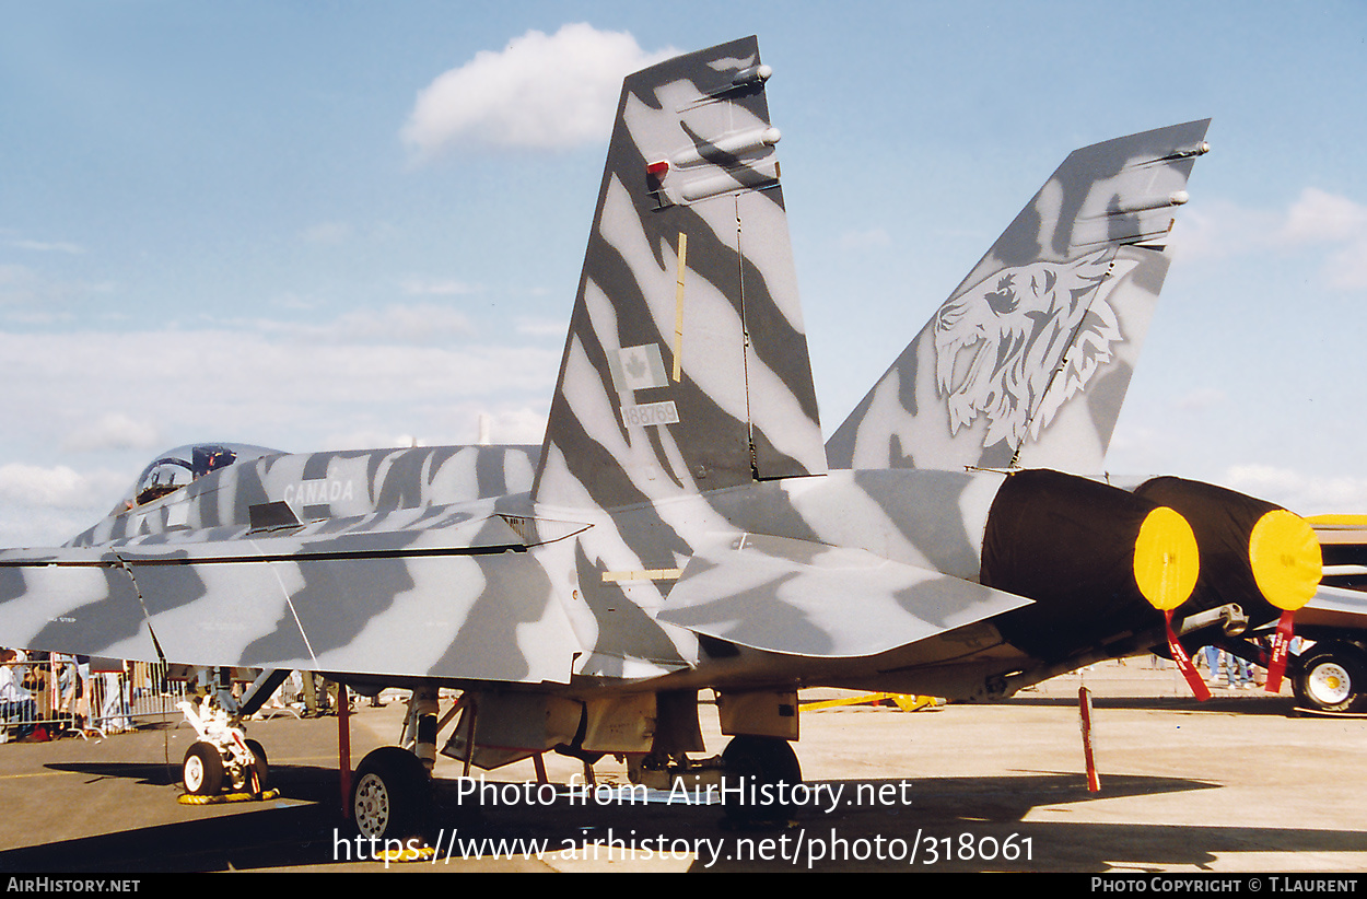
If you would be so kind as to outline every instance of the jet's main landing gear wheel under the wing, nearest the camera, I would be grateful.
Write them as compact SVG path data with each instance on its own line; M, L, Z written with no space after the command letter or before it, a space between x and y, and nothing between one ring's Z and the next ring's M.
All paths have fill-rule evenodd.
M381 746L361 760L351 784L351 820L366 839L407 843L432 814L432 779L417 756Z

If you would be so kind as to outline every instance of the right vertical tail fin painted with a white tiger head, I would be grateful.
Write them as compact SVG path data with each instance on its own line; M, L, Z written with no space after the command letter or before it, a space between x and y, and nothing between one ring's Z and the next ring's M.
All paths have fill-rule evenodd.
M830 465L1100 471L1208 124L1073 152L831 436Z

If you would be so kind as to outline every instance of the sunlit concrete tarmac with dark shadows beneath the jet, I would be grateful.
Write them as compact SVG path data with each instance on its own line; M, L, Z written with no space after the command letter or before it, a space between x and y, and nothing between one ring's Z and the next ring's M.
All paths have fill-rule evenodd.
M1094 694L1095 794L1081 683ZM340 820L332 717L252 723L282 795L238 805L176 802L194 734L174 720L107 739L11 743L0 746L0 872L1367 870L1367 720L1296 717L1289 695L1215 693L1197 702L1173 668L1131 660L999 705L804 712L804 805L786 824L753 829L726 824L718 805L633 805L621 792L506 805L511 788L472 807L458 762L443 758L440 857L390 866ZM353 765L398 739L403 710L358 702ZM703 724L708 750L720 751L709 709ZM582 772L554 754L547 768L560 784ZM595 773L626 784L612 758ZM536 775L526 761L485 777Z

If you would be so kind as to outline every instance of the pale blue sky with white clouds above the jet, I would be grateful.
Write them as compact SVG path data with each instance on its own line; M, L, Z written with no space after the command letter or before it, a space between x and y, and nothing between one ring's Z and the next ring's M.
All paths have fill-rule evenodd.
M5 19L0 544L70 537L194 440L468 443L483 413L539 443L610 127L593 104L745 34L775 70L827 433L1070 150L1213 117L1110 467L1367 511L1360 3Z

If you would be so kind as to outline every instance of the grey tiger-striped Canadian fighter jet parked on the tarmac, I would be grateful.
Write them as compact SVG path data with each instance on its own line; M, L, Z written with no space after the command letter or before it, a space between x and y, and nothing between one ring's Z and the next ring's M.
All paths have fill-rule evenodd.
M1159 608L1182 631L1314 590L1300 519L1098 480L1206 122L1069 156L826 445L770 74L744 38L626 79L540 448L223 456L3 553L0 633L279 672L257 700L290 669L411 689L416 754L357 777L395 836L443 686L448 754L647 775L703 751L711 689L726 772L782 782L800 687L1005 697L1162 645Z

